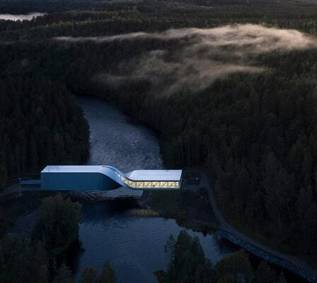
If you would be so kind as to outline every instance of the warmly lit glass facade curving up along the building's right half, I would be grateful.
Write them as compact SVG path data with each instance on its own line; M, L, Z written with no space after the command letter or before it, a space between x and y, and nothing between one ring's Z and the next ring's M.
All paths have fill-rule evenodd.
M129 187L133 187L134 189L179 189L180 182L179 181L135 181L129 180L124 176L120 175L116 171L115 174Z

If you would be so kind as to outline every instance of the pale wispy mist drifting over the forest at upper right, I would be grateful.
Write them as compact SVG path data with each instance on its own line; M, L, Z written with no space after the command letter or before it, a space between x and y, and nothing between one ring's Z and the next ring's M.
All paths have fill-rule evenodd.
M285 52L317 47L316 37L298 30L263 25L225 25L219 28L171 29L162 33L128 33L103 37L56 37L62 42L96 43L115 40L183 40L180 48L153 50L120 62L118 74L98 74L95 79L113 87L146 80L154 93L171 94L185 89L202 91L215 79L234 72L260 73L253 58L266 52Z

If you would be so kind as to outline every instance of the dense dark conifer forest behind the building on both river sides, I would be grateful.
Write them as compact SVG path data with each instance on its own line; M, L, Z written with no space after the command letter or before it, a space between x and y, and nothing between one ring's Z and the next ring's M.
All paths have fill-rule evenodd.
M207 167L229 221L316 262L316 46L252 54L248 67L265 71L234 71L204 88L192 87L194 80L166 93L156 85L161 73L155 69L153 80L139 78L139 58L153 51L161 58L157 51L167 50L164 62L177 61L173 50L186 51L187 37L72 39L237 23L313 37L314 2L141 1L91 9L0 21L0 54L6 54L0 57L2 186L7 177L37 171L47 161L83 162L88 127L72 93L100 96L160 132L168 166ZM224 54L217 56L228 63Z

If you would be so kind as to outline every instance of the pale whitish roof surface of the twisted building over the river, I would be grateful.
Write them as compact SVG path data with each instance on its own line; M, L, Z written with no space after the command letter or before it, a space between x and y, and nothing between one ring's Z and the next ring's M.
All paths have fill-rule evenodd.
M41 173L103 173L104 168L113 168L112 166L99 165L57 165L46 166ZM115 168L113 168L114 170ZM130 180L139 181L179 181L182 175L181 170L136 170L129 173L121 173Z

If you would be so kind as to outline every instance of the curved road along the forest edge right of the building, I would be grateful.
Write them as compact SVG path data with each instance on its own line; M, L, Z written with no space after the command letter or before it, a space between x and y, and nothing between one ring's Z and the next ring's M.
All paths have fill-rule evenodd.
M273 255L276 258L280 258L282 260L288 261L289 263L291 263L295 267L299 267L301 270L306 272L306 274L308 275L308 276L306 276L306 279L308 279L309 282L317 282L317 271L313 270L313 268L310 267L309 265L306 265L306 263L303 262L302 260L299 260L299 258L296 258L292 255L286 255L284 253L279 253L278 251L272 250L271 248L268 248L267 246L263 246L262 244L254 241L253 239L249 238L248 236L245 236L243 233L239 232L233 226L231 226L226 221L226 219L224 219L224 216L222 216L221 212L219 211L219 208L218 208L217 202L216 202L216 198L214 196L214 191L212 190L212 184L210 183L207 172L204 170L201 170L201 172L202 172L202 175L200 177L200 184L202 185L202 187L207 188L208 197L209 197L209 204L212 206L214 214L219 222L219 229L222 229L223 231L230 233L231 235L238 238L238 240L240 240L240 241L243 241L245 243L248 243L248 244L254 246L255 248L258 248L260 250L265 251L265 253ZM229 241L232 241L231 238L229 238L229 237L226 237L226 238ZM266 260L270 261L270 259L268 259L268 258L266 258ZM272 262L272 260L271 260L271 262ZM275 263L275 262L273 262L273 263ZM292 271L296 272L294 270L292 270ZM299 272L296 272L296 273L299 274ZM302 274L299 274L299 275L303 276Z

